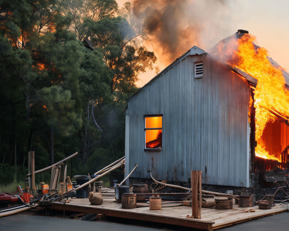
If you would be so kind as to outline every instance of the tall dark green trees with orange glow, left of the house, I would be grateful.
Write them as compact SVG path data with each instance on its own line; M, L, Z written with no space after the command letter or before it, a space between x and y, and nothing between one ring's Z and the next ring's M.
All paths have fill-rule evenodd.
M145 35L130 3L121 10L115 0L0 5L0 185L24 180L30 150L36 170L79 152L66 163L71 176L122 157L125 100L156 61L139 45ZM49 175L36 174L36 183Z

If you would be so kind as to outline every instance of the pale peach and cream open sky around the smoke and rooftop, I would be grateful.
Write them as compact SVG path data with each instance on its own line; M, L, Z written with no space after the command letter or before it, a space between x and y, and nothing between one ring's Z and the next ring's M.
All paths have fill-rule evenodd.
M123 3L126 2L124 0L116 1L119 7L122 7ZM189 4L188 9L190 10L189 14L191 14L192 17L205 21L202 24L202 31L200 31L200 40L202 44L200 45L198 42L192 41L191 44L184 47L180 54L176 54L175 59L194 45L208 51L218 41L232 35L238 29L245 29L257 37L257 45L265 47L269 52L269 56L285 70L289 71L289 1L187 0L186 2L194 2L194 5L199 4L197 13L194 12L195 8L189 7ZM223 7L212 10L214 7L212 7L211 4L216 4L216 2L223 2ZM190 18L187 18L187 20L190 20ZM213 32L211 33L211 31ZM158 51L154 50L153 46L147 46L147 48L155 52L158 58L157 65L160 70L170 64L162 59L163 54L161 55ZM137 85L139 87L143 86L154 76L155 71L146 72L140 75L140 81L138 81Z

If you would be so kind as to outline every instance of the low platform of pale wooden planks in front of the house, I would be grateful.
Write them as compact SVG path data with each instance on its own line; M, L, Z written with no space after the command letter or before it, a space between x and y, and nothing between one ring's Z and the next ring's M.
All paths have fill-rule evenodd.
M139 204L139 203L138 203ZM258 219L274 215L277 213L286 212L288 206L277 204L269 210L259 210L258 206L251 207L255 212L246 213L245 209L239 208L237 204L233 205L233 209L216 210L215 208L202 208L201 219L187 218L187 215L192 215L192 208L189 206L174 206L175 204L163 204L161 210L149 210L148 204L140 203L141 206L135 209L123 209L121 204L114 202L113 197L105 196L101 205L91 205L88 198L71 199L65 204L65 210L104 214L112 217L123 217L142 221L153 221L172 225L186 226L199 228L204 230L214 230L225 226L230 226L236 223ZM63 203L53 202L51 208L63 210Z

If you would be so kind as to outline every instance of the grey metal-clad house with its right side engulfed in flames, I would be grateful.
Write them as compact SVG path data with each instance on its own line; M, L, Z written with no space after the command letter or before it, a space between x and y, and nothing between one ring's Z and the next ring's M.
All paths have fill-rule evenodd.
M288 165L289 74L239 30L194 46L127 100L126 175L250 187Z

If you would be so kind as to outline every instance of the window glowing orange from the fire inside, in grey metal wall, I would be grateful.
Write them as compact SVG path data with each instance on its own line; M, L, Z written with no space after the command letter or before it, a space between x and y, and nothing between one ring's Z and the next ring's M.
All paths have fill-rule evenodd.
M144 116L144 149L162 150L162 115Z

